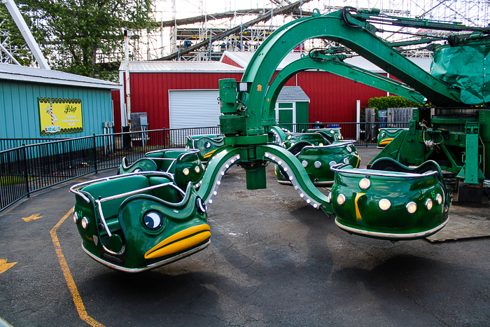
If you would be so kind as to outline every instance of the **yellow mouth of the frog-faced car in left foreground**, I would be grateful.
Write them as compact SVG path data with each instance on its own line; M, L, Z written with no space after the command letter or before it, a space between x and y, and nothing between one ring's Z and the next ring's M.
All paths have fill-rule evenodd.
M209 225L202 224L176 232L148 250L145 259L160 258L191 249L211 237L209 230Z

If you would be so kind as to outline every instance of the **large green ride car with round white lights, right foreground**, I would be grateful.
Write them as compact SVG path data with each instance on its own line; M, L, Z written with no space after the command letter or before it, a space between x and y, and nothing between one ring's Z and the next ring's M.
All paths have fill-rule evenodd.
M332 170L330 202L335 223L346 232L392 241L420 239L449 221L451 192L434 161L406 167L381 158L370 169L337 165Z

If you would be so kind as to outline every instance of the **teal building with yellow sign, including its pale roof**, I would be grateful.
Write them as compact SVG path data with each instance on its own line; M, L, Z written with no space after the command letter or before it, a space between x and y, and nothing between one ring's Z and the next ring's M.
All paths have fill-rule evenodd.
M103 134L103 123L113 122L111 90L120 88L62 71L0 64L0 139Z

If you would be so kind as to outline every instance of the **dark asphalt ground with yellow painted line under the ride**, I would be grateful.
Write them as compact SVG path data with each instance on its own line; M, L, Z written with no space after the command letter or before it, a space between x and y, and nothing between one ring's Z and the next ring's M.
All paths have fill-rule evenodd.
M358 150L364 165L377 153ZM246 190L239 167L223 176L208 210L207 249L139 274L111 270L81 249L68 190L113 170L34 193L1 212L5 321L13 326L490 325L490 238L392 243L349 235L293 188L279 185L272 165L264 190ZM482 210L490 216L490 209Z

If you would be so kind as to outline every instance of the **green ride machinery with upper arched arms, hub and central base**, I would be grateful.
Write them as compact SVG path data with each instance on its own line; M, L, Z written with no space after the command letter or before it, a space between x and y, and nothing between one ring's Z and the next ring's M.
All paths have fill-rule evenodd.
M416 41L431 43L427 48L433 50L433 64L428 74L397 50L408 43L386 43L376 35L378 29L372 23L457 34L449 36L443 45L433 43L440 39ZM263 166L260 145L271 141L271 127L276 124L274 103L282 86L298 71L322 69L425 104L414 111L409 129L374 160L393 158L403 165L434 160L460 181L458 200L475 201L475 195L482 193L482 181L490 179L490 75L486 74L489 32L489 27L396 18L375 9L357 11L350 7L328 15L314 11L311 18L283 25L262 43L239 83L232 79L220 81L221 132L226 145L244 151L241 165L247 170L247 186L265 187L260 182L248 183L248 176L254 181L265 180L260 178L265 170L258 167ZM270 83L283 57L307 39L335 41L345 48L313 50L288 65ZM347 48L403 83L344 63L346 55L339 53Z

